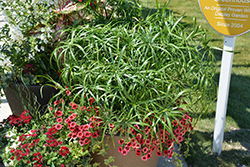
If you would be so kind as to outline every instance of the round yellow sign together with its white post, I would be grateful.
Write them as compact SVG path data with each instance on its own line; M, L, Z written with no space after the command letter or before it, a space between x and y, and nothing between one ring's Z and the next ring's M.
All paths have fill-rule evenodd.
M213 152L222 150L235 38L250 30L250 0L198 0L208 24L225 36L215 115Z

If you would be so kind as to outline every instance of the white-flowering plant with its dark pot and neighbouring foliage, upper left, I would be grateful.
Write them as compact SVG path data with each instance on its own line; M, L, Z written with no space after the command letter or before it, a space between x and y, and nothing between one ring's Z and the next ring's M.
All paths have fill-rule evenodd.
M0 88L4 89L10 103L15 101L11 108L20 111L18 115L24 104L36 102L41 108L56 94L51 87L44 86L48 81L43 76L49 75L59 82L59 69L50 58L58 42L64 40L60 30L114 19L122 21L124 12L133 8L133 4L125 0L10 0L0 3L0 10L8 21L0 32L1 54L8 60L3 63ZM131 12L131 17L134 14Z

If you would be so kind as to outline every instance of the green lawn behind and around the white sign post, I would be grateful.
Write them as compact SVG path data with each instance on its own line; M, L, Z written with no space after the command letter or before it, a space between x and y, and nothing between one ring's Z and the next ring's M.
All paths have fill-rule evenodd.
M147 8L156 8L155 0L139 0ZM158 0L163 5L168 0ZM167 9L173 10L176 16L183 15L183 21L197 23L206 29L211 39L209 45L223 48L224 36L215 32L205 21L197 0L172 0ZM228 99L227 116L222 153L212 153L213 131L215 122L216 102L211 104L209 115L202 118L191 134L189 166L197 167L250 167L250 33L236 37L233 68ZM215 52L217 73L215 80L219 84L222 52Z

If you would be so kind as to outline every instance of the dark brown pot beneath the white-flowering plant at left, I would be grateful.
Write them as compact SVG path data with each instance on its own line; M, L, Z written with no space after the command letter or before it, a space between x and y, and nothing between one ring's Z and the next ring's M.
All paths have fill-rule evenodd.
M4 93L12 113L21 115L24 109L43 112L58 90L51 86L9 84Z

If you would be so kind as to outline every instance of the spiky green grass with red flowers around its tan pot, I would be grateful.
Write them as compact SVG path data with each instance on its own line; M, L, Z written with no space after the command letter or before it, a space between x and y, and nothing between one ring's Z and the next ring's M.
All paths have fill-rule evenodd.
M174 143L193 129L194 106L207 107L215 90L204 31L162 9L129 23L69 27L60 37L51 58L60 82L47 76L60 92L40 118L9 118L6 165L120 166L117 153L145 166L153 155L175 156Z

